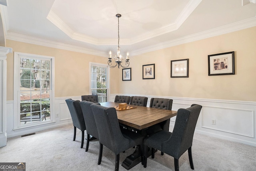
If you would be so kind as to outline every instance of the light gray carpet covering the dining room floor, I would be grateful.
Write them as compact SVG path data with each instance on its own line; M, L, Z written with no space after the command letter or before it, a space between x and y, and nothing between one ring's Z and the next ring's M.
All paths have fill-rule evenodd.
M26 162L26 171L113 171L115 156L103 147L102 162L98 162L99 142L90 142L88 152L80 149L81 132L77 130L73 140L73 126L36 132L26 137L8 138L7 145L0 148L0 162ZM86 137L86 136L85 136ZM125 157L133 153L131 148L120 153L120 171ZM194 135L192 156L195 171L255 171L256 147L230 142L218 138ZM180 171L192 171L186 151L179 160ZM147 168L141 163L130 171L174 171L174 159L169 155L155 153L155 158L148 158Z

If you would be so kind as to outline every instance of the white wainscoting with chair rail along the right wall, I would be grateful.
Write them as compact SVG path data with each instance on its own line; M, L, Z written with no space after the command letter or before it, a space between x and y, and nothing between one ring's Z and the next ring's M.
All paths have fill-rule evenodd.
M203 107L196 124L196 133L256 147L256 102L145 94L111 94L110 101L116 95L146 96L148 97L148 107L151 98L170 98L173 100L172 110L176 111L180 108L189 108L191 104L200 104ZM114 100L112 101L114 102ZM175 120L176 116L170 119L171 132ZM212 120L215 121L214 124L212 124Z

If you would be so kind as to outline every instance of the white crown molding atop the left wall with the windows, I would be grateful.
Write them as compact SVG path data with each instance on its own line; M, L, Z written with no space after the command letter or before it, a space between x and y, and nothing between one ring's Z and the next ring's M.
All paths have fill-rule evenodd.
M84 47L78 47L78 46L74 46L74 45L68 45L68 44L59 43L59 42L55 42L55 41L49 41L49 40L40 39L40 38L36 38L36 37L30 37L27 35L21 35L21 34L12 33L12 32L7 32L6 39L20 41L20 42L24 42L24 43L31 43L34 45L53 47L53 48L57 48L57 49L64 49L64 50L68 50L68 51L75 51L75 52L80 52L80 53L87 53L90 55L106 57L106 53L102 52L102 51L87 49Z

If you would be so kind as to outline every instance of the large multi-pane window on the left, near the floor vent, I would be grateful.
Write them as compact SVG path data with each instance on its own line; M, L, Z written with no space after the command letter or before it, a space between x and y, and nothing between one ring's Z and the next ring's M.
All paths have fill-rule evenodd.
M54 58L14 52L16 128L52 121Z

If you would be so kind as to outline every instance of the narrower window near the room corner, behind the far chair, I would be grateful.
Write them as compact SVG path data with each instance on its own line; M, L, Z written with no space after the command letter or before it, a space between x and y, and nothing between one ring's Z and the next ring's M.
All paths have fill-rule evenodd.
M108 101L108 67L90 63L90 91L97 94L99 102Z

